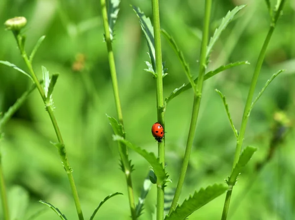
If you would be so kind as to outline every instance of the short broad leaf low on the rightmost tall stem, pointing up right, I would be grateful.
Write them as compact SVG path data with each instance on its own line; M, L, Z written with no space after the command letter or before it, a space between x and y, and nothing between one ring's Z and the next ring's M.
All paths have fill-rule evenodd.
M240 174L240 172L242 171L242 168L248 164L248 162L250 161L251 157L253 156L253 154L255 153L255 151L257 150L256 147L252 147L252 146L247 146L242 154L240 155L238 162L234 168L234 170L232 171L231 176L228 178L228 180L226 180L226 183L233 187L236 184L236 178L237 176Z

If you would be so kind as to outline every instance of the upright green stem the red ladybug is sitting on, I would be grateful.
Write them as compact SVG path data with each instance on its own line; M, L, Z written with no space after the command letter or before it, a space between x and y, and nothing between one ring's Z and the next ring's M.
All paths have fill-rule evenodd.
M155 55L156 55L156 93L157 93L157 117L158 122L165 129L164 121L164 98L163 98L163 75L162 75L162 51L161 51L161 29L160 29L160 11L159 0L152 0L153 28L155 38ZM165 131L165 130L164 130ZM165 165L165 138L158 142L159 162ZM157 220L164 219L164 186L157 185Z

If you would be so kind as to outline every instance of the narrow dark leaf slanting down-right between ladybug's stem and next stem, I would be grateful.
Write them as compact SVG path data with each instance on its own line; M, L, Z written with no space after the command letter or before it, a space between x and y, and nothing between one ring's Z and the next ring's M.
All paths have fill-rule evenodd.
M161 29L162 34L164 35L164 37L167 39L167 41L169 42L170 46L172 47L172 49L174 50L175 54L177 55L178 59L180 60L180 63L184 69L184 72L186 74L186 77L189 81L189 83L191 84L191 86L193 87L194 93L197 95L197 91L195 88L195 83L192 77L192 74L190 72L190 68L187 64L187 62L184 59L184 56L182 54L182 52L179 50L179 48L177 47L177 44L175 42L175 40L173 39L172 36L170 36L166 30Z

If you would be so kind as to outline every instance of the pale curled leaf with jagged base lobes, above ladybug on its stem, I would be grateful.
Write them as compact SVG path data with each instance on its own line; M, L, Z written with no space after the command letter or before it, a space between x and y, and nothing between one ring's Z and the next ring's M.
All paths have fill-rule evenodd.
M151 73L154 77L157 77L156 75L156 52L155 52L155 39L154 39L154 32L153 27L150 22L150 19L146 17L144 12L140 10L139 7L133 6L133 10L136 13L137 17L139 18L140 26L144 32L144 35L147 39L148 44L148 55L150 62L146 61L146 64L148 66L148 69L145 69L147 72ZM162 74L163 77L167 75L167 68L165 68L165 62L162 63Z

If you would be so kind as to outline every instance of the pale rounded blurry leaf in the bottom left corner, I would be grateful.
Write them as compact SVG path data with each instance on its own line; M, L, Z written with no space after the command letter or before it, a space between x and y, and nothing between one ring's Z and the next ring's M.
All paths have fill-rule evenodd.
M23 220L29 205L29 193L20 186L13 186L8 192L11 220Z

